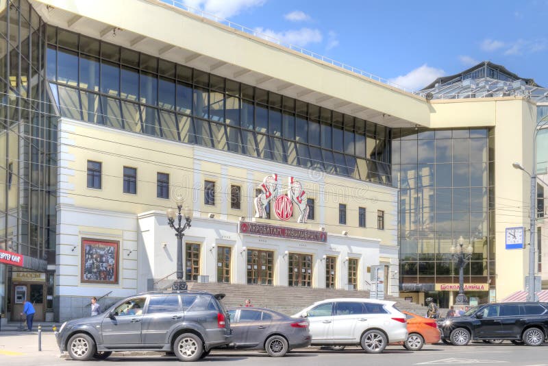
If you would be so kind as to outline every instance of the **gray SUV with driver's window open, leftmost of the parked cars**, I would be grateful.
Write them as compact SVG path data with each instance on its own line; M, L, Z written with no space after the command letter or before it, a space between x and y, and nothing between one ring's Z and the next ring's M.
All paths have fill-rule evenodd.
M140 293L101 315L65 321L57 343L61 352L79 361L129 350L173 352L180 361L197 361L231 342L223 297L186 291Z

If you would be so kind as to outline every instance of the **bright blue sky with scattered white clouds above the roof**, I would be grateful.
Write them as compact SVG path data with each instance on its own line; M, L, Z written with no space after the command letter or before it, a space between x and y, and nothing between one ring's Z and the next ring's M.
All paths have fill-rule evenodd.
M548 0L178 0L413 90L490 60L548 87Z

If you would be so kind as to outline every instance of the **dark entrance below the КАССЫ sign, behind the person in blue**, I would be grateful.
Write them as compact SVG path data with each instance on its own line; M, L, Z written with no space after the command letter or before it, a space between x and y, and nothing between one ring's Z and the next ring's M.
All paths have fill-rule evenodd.
M43 283L14 283L12 286L12 321L19 321L25 300L34 306L34 321L44 321L46 288ZM25 321L25 315L22 317Z

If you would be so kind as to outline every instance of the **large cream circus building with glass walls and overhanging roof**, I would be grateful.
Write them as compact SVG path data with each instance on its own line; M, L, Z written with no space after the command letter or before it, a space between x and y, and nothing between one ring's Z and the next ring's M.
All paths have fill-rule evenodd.
M462 237L480 300L523 289L495 209L527 198L511 163L528 168L532 99L410 93L190 8L125 4L0 1L3 319L165 288L179 207L195 284L376 282L445 306Z

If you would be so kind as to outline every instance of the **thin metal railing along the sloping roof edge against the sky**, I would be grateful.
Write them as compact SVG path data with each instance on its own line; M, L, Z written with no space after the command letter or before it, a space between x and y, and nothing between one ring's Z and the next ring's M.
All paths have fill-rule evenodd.
M332 58L322 56L319 53L315 53L313 51L309 51L308 49L303 49L302 47L292 45L289 42L284 42L282 40L279 40L277 38L269 36L268 34L264 34L264 33L261 33L261 32L256 32L256 30L245 27L245 26L240 25L238 23L234 23L234 22L229 21L227 19L220 18L219 16L216 16L214 14L204 12L203 10L200 10L200 9L197 9L197 8L192 8L191 6L185 5L182 2L182 0L161 0L161 1L163 3L166 3L168 5L173 6L174 8L177 8L179 10L184 10L186 12L196 14L196 15L201 16L203 18L210 19L211 21L214 21L216 23L226 25L227 27L230 27L232 29L236 29L240 32L251 34L252 36L256 36L258 38L268 40L269 42L273 42L276 45L286 47L286 48L288 48L292 51L297 51L299 53L302 53L303 55L306 55L306 56L309 56L309 57L312 57L312 58L316 58L317 60L321 60L323 62L326 62L327 64L331 64L332 66L336 66L340 69L351 71L352 73L356 73L358 75L368 77L371 80L375 80L377 82L380 82L382 84L386 84L388 86L393 86L395 88L401 89L401 90L403 90L405 92L408 92L408 93L413 93L413 94L415 93L414 90L411 90L409 88L405 88L405 87L403 87L399 84L396 84L395 82L391 82L390 80L388 80L384 77L380 77L380 76L374 75L372 73L368 73L366 71L360 70L356 67L350 66L350 65L345 64L343 62L340 62L340 61L337 61L337 60L333 60Z

